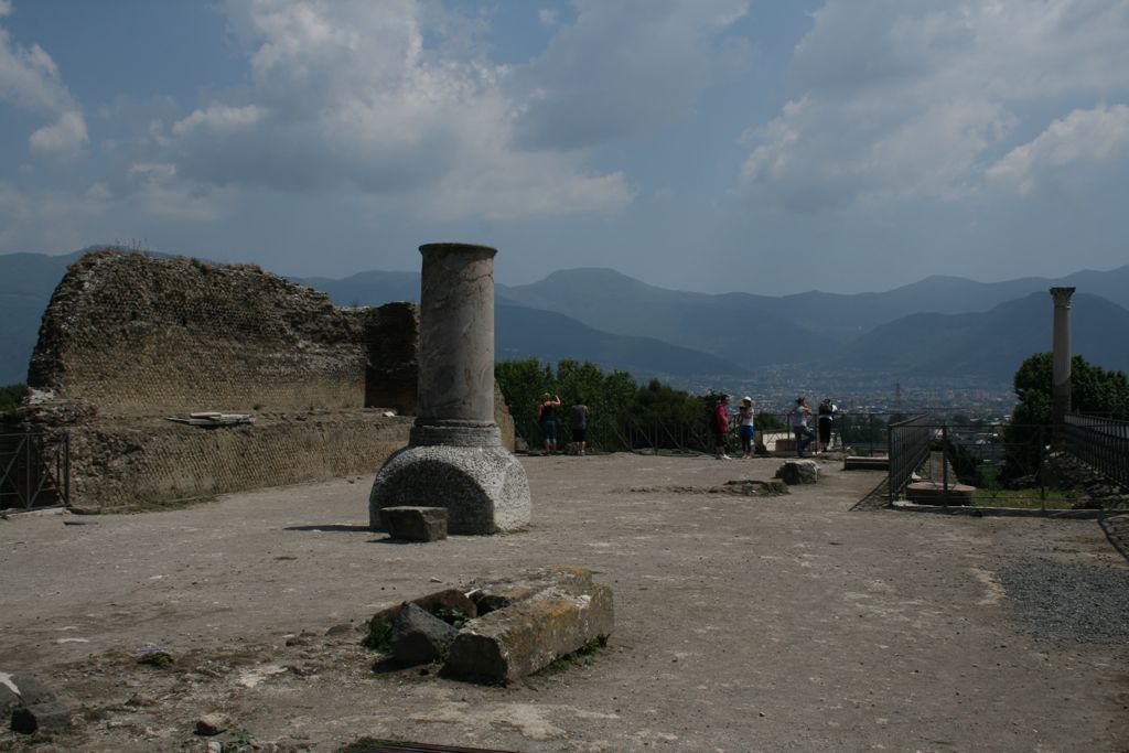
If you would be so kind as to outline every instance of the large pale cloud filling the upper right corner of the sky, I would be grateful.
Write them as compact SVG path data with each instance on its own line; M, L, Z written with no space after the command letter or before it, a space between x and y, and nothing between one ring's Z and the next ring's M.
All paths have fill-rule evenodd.
M814 20L793 62L803 96L745 134L756 201L970 196L1032 113L1129 95L1124 0L829 0Z

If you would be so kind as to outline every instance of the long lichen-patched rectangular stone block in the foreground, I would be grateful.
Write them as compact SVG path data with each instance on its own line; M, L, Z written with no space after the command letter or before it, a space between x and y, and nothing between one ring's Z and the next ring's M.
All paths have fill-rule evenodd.
M509 604L463 627L444 665L449 676L507 684L606 639L615 624L612 589L580 568L548 568L481 590Z

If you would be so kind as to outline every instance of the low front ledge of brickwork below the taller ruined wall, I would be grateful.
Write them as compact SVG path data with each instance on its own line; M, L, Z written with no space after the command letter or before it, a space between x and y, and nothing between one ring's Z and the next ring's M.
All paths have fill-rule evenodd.
M71 429L72 506L106 510L370 476L406 444L411 423L359 410L213 429L159 420L86 424Z

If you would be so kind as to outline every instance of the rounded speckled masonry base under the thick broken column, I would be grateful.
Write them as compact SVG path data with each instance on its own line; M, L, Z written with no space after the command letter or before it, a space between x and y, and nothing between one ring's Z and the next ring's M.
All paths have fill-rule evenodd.
M447 508L452 534L520 531L530 525L530 481L500 446L406 447L385 462L373 483L369 527L380 531L380 510L399 506Z

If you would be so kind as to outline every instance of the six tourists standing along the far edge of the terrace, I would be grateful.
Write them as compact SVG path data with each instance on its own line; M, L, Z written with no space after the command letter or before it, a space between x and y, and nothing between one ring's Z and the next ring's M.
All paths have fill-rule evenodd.
M807 399L800 395L796 399L796 405L788 411L788 427L796 438L796 455L807 457L805 450L812 441L819 438L816 454L824 453L831 448L831 424L838 408L830 397L823 400L815 411L819 435L808 426L813 415L812 409L807 404ZM558 421L561 411L560 395L544 393L537 403L537 424L541 428L541 438L544 441L545 455L558 453ZM568 445L568 450L574 455L584 455L588 446L588 406L583 400L569 409L569 426L572 430L572 441ZM756 427L754 423L753 399L745 395L741 399L741 406L737 409L737 435L741 437L741 457L750 458L754 454L768 454L763 444L756 441ZM729 396L720 395L714 408L712 432L715 457L719 461L733 459L728 455L729 439Z

